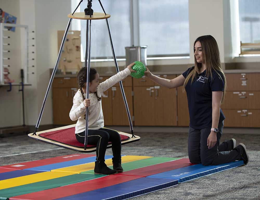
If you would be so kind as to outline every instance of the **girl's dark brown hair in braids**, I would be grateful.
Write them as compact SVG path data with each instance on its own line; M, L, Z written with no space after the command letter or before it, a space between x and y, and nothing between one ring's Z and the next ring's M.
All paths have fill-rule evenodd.
M79 84L79 89L80 89L83 101L85 100L85 97L84 97L82 87L87 82L87 73L88 73L87 67L82 67L77 75L77 82ZM89 83L91 83L95 79L96 73L97 73L97 71L94 68L90 68ZM95 94L96 94L97 100L101 101L101 97L97 96L97 92L95 92ZM84 119L86 119L86 115L85 115Z

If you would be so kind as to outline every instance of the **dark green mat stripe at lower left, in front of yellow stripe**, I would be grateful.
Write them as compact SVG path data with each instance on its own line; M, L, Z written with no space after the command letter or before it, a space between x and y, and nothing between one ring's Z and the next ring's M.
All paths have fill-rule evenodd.
M79 183L86 180L91 180L95 178L100 178L107 175L101 174L73 174L69 176L64 176L60 178L54 178L50 180L44 180L36 183L30 183L26 185L10 187L0 190L0 200L14 197L18 195L24 195L32 192L38 192L42 190L48 190L55 187L61 187L64 185L70 185L74 183ZM6 198L2 198L6 197Z

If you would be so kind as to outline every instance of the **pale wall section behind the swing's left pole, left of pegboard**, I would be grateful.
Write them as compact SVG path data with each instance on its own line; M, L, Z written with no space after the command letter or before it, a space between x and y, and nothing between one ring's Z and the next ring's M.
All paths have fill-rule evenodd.
M70 0L35 0L38 113L49 84L49 69L54 68L57 60L57 31L66 29L69 21L67 15L70 12ZM52 94L50 91L41 119L41 125L52 124L53 122L51 99Z

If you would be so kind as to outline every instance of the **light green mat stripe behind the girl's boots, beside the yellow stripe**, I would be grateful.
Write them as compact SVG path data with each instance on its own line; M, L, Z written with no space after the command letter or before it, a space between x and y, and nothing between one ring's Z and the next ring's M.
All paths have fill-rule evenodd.
M177 160L179 158L161 158L161 157L153 157L153 158L146 158L143 160L136 160L128 163L122 163L122 167L124 172L129 170L135 170L141 167L147 167L151 165L156 165L160 163L165 163L173 160ZM113 169L113 166L109 166L109 168ZM94 174L94 170L89 170L85 172L81 172L81 174Z

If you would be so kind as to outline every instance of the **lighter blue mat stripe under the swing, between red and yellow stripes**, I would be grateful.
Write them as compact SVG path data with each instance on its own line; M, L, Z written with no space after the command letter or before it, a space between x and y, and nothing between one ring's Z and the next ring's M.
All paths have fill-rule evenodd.
M106 155L105 159L110 159L112 157L113 157L112 155ZM92 156L92 157L88 157L88 158L81 158L81 159L77 159L77 160L65 161L62 163L54 163L54 164L49 164L49 165L27 168L25 170L51 171L54 169L70 167L70 166L74 166L74 165L81 165L81 164L86 164L86 163L92 163L95 161L96 161L96 156Z

